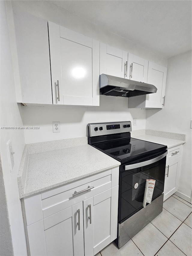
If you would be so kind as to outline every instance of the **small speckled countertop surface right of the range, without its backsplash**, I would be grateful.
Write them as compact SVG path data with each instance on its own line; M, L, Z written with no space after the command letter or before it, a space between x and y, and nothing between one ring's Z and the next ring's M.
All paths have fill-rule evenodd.
M185 143L185 141L183 141L183 140L168 139L168 138L164 138L164 137L157 137L157 136L147 135L147 134L138 135L138 136L135 135L135 136L131 136L131 137L133 137L135 139L139 139L139 140L146 140L149 142L163 144L163 145L166 145L168 149Z

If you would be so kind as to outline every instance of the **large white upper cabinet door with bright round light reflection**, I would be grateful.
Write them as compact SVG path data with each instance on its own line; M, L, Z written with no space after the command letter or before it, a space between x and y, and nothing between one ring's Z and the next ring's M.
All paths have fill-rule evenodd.
M48 26L53 104L99 106L99 41Z

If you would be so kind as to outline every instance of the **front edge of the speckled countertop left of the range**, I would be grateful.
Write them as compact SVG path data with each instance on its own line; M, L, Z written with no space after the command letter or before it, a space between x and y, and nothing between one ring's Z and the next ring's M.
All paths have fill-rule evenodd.
M113 159L114 160L114 159ZM64 185L64 184L67 184L67 183L70 183L70 182L73 182L73 181L76 181L76 180L79 180L79 179L82 179L82 178L85 178L85 177L88 177L88 176L91 176L93 174L96 174L96 173L100 173L102 171L105 171L105 170L108 170L108 169L111 169L111 168L114 168L114 167L117 167L119 166L121 163L117 161L117 164L113 164L113 165L110 165L109 167L105 167L105 168L102 168L102 169L99 169L99 170L96 170L96 171L93 171L91 173L88 173L88 174L85 174L85 175L81 175L79 177L75 177L75 178L72 178L72 179L69 179L69 180L65 180L63 182L59 182L59 183L56 183L54 185L50 185L48 187L45 187L45 188L40 188L38 190L35 190L35 191L31 191L31 192L27 192L27 193L23 193L23 194L20 194L20 199L21 198L24 198L24 197L27 197L27 196L31 196L33 194L37 194L37 193L40 193L42 191L45 191L45 190L48 190L48 189L51 189L51 188L55 188L55 187L58 187L58 186L61 186L61 185Z

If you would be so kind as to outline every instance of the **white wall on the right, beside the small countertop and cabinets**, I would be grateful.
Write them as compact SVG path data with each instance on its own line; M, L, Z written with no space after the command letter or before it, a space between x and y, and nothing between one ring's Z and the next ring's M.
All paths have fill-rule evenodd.
M191 197L191 52L168 59L165 95L165 107L162 110L147 110L146 129L187 135L178 191Z

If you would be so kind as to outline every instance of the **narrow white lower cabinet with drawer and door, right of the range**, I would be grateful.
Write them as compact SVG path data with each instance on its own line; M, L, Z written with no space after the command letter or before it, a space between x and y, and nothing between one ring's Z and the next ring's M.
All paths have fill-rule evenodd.
M181 151L182 146L177 146L174 149L168 149L165 171L164 201L178 190L181 169Z

